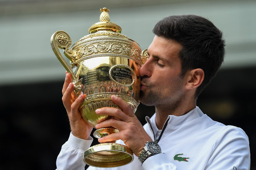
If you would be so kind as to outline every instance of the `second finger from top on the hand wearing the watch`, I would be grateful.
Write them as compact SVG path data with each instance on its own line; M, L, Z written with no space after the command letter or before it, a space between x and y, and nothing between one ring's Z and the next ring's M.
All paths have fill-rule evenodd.
M124 112L122 112L118 108L114 107L102 107L98 108L95 111L96 114L98 115L109 115L109 116L114 116L119 120L122 120L124 122L128 122L129 116L127 116Z

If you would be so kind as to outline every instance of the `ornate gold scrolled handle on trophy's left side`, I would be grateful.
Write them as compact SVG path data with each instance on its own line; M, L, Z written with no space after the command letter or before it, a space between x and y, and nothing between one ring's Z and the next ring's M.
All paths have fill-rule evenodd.
M82 78L78 80L75 73L72 71L68 63L65 61L63 56L61 55L59 49L64 49L64 55L73 63L76 63L75 60L75 52L71 49L68 49L71 45L71 38L68 33L65 31L57 31L51 37L51 46L54 54L57 56L60 63L63 67L68 71L71 75L72 83L74 84L74 93L78 97L82 91Z

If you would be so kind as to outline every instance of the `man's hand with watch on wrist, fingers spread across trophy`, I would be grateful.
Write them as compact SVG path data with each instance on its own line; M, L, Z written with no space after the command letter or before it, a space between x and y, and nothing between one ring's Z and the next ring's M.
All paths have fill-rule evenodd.
M114 116L117 119L108 119L96 125L96 128L104 128L108 126L112 126L119 130L118 133L113 133L108 136L104 136L98 139L99 142L108 142L113 140L123 140L125 145L129 147L132 152L139 156L144 144L147 141L152 141L151 137L148 136L146 131L144 130L142 124L134 115L129 104L122 99L112 96L111 99L114 103L116 103L119 107L123 109L123 112L118 108L111 107L103 107L96 110L96 113L99 115L110 115Z

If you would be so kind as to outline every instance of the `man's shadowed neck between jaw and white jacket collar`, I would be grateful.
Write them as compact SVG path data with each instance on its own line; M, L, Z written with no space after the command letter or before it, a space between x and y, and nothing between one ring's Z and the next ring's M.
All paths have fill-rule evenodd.
M182 116L196 108L196 100L185 102L184 104L176 103L172 105L157 105L156 108L156 125L162 129L168 115Z

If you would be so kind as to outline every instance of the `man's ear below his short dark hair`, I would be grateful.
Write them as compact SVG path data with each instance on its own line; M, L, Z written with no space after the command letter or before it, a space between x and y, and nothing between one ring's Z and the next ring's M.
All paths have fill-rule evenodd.
M202 84L204 71L201 68L193 69L187 72L186 77L186 89L194 89Z

